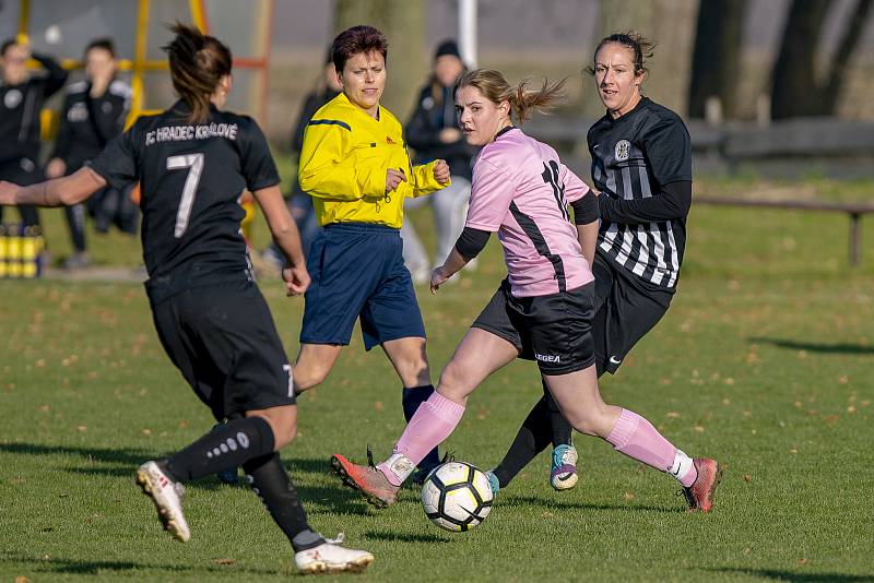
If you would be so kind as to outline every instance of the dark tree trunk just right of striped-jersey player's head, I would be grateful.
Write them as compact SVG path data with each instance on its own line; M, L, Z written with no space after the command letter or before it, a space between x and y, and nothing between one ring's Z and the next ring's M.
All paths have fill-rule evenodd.
M705 0L698 12L689 82L689 117L705 117L709 97L719 97L725 117L735 112L735 87L747 0Z

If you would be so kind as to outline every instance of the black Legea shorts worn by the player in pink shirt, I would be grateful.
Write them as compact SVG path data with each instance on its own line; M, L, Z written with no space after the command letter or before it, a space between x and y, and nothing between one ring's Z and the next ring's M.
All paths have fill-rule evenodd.
M576 372L594 362L593 295L592 283L548 296L517 298L505 279L471 328L506 340L520 358L536 360L543 374Z

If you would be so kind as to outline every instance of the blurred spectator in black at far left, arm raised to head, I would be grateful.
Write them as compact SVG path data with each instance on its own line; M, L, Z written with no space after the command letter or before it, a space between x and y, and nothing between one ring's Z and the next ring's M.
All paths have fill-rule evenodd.
M39 156L39 112L45 100L58 92L67 81L67 71L51 58L33 55L45 69L43 74L31 74L27 45L7 40L0 47L0 180L17 185L33 185L43 180L37 164ZM19 206L25 226L38 226L36 207ZM0 206L0 219L3 207Z

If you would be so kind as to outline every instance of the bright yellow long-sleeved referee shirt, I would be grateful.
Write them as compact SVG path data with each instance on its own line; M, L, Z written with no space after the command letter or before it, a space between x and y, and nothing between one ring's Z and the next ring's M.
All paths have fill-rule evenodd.
M406 181L386 194L386 170ZM401 228L403 201L449 186L434 179L434 162L413 166L402 128L388 109L374 119L341 93L319 109L304 132L298 180L312 197L319 225L369 223Z

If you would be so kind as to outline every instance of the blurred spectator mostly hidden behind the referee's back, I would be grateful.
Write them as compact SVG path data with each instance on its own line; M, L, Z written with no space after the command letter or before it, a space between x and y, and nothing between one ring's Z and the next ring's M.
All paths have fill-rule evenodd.
M312 92L304 99L304 106L297 116L297 123L295 123L292 131L292 156L300 156L300 150L304 147L304 130L307 129L309 120L312 119L316 111L321 109L321 106L336 97L338 93L340 93L340 80L336 76L334 63L331 61L331 47L328 47L324 70L316 81ZM304 254L308 254L309 246L319 230L319 225L316 222L312 199L300 190L300 185L297 182L297 172L294 175L294 186L286 202L288 210L292 212L292 217L297 224L297 230L300 231L300 245L303 246ZM276 267L282 266L282 251L273 243L261 255L264 261Z

